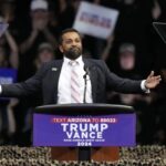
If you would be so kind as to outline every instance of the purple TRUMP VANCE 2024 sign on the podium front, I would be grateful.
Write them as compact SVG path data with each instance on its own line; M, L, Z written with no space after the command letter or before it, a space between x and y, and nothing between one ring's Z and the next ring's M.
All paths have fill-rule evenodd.
M135 114L33 115L34 146L135 146Z

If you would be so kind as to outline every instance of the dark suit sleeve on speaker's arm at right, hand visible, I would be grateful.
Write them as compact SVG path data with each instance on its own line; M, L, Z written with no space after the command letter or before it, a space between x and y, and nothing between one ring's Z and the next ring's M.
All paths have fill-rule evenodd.
M142 93L141 89L142 81L135 81L129 79L122 79L116 74L112 73L106 66L105 62L102 61L103 69L105 72L106 86L112 89L113 91L117 91L121 93Z

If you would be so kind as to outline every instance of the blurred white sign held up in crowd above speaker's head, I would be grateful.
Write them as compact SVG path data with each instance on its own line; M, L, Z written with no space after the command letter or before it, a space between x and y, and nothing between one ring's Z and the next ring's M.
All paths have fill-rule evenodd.
M115 9L82 1L73 28L83 34L106 39L113 33L117 17Z

